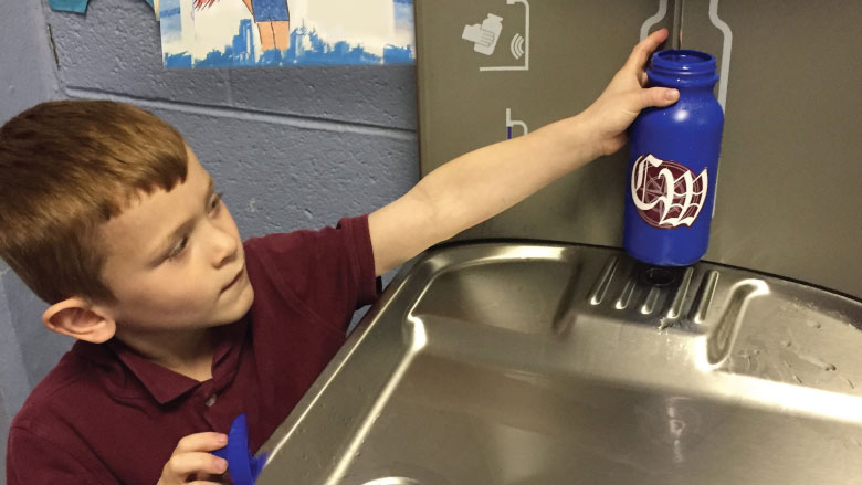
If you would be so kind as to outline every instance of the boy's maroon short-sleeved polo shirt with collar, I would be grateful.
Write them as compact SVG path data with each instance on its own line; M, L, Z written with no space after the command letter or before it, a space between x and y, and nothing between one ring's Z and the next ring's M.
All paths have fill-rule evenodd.
M7 485L154 485L177 442L227 433L240 413L257 450L379 293L368 218L245 242L254 304L214 329L212 379L153 363L117 340L78 341L9 431Z

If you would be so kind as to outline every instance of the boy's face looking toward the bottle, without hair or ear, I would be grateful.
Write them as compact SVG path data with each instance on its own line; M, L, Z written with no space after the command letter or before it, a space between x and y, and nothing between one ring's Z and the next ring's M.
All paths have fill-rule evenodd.
M101 231L107 305L124 331L207 328L240 319L254 298L240 232L212 178L188 151L186 181L141 193Z

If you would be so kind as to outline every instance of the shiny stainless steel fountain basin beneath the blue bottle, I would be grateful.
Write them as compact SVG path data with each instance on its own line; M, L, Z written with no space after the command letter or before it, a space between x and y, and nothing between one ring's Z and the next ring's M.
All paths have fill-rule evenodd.
M516 243L399 274L260 485L862 484L862 305Z

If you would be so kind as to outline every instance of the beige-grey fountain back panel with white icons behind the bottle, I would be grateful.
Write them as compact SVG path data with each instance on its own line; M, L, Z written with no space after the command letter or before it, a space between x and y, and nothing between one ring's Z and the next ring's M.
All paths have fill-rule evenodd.
M722 75L705 260L862 298L862 3L435 0L416 10L423 175L586 108L639 39L667 27L682 48L714 54ZM620 247L627 158L599 159L456 239Z

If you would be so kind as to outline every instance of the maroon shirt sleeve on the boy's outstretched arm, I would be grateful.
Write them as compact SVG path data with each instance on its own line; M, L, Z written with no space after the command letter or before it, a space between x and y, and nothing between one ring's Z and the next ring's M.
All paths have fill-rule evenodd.
M255 286L255 293L275 291L295 298L296 305L338 331L346 330L357 308L380 294L368 215L345 218L319 231L252 239L245 246L250 275L260 273L269 286Z

